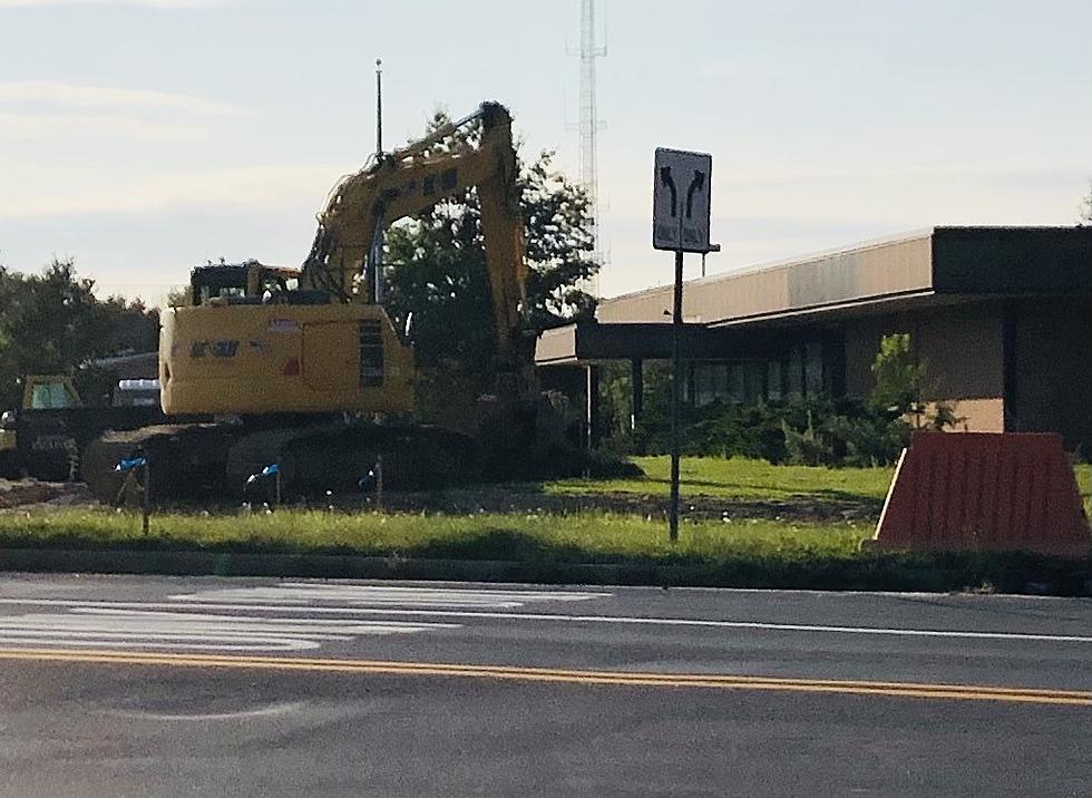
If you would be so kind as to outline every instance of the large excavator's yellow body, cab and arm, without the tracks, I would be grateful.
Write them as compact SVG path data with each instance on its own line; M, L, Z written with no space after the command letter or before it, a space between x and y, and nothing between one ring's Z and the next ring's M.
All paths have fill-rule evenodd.
M456 135L474 123L480 123L476 143ZM487 103L342 179L319 214L298 289L276 284L283 286L285 270L251 264L237 290L211 295L208 280L197 290L195 272L194 306L163 317L164 411L411 412L412 352L379 301L380 257L373 250L394 221L469 188L481 203L501 369L528 368L521 346L526 246L511 117L504 106ZM255 278L259 267L264 271Z

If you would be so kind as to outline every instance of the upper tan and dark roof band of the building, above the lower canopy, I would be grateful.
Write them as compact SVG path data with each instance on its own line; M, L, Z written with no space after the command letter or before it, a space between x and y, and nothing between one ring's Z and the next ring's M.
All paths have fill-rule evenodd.
M688 322L727 325L947 295L1092 295L1092 227L933 227L686 283ZM599 303L613 323L670 323L672 286Z

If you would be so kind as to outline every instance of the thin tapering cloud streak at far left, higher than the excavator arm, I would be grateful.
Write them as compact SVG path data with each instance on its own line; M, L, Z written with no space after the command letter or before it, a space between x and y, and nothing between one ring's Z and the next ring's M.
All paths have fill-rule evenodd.
M0 0L0 6L3 2L4 0ZM237 106L189 95L53 80L0 82L0 103L53 103L78 108L165 109L206 116L241 116L247 113Z

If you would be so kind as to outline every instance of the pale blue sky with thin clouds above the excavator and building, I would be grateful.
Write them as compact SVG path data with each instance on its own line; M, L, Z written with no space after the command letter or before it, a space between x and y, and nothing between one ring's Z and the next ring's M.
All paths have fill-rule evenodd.
M713 156L710 273L942 224L1074 224L1088 0L598 0L605 296L667 284L657 146ZM0 263L160 303L298 265L330 188L437 108L507 105L574 177L579 0L0 0ZM691 256L686 275L696 276Z

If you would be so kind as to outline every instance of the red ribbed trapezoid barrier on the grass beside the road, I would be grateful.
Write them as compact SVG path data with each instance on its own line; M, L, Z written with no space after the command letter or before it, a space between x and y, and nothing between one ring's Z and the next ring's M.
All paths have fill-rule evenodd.
M1056 435L914 434L869 542L916 551L1086 557L1092 533Z

